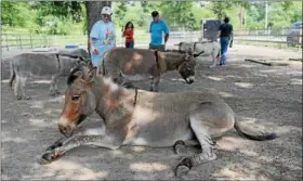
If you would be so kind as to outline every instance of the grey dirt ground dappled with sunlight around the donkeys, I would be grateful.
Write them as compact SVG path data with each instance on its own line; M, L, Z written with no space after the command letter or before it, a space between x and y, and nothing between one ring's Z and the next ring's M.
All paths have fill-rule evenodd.
M240 121L274 130L273 141L250 141L235 131L218 141L216 160L194 167L185 180L302 180L302 62L265 66L251 59L301 57L302 52L237 46L227 65L210 69L199 61L196 81L186 85L175 72L166 74L160 91L212 91L230 105ZM276 60L279 61L279 60ZM139 83L147 89L147 83ZM60 81L64 91L65 78ZM38 164L44 150L61 138L56 127L64 98L48 95L49 80L31 79L32 100L16 101L8 80L1 83L1 179L43 180L180 180L174 168L182 156L172 147L123 146L117 151L82 146L45 166ZM96 115L81 127L100 124Z

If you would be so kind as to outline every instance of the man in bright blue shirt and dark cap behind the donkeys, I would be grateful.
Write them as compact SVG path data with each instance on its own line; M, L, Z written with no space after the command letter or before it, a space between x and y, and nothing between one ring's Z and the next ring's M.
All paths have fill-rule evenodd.
M169 27L167 23L160 18L159 12L154 11L152 12L153 22L149 26L149 33L150 33L150 43L149 49L164 51L166 50L166 43L169 40ZM164 42L162 40L162 34L164 33Z

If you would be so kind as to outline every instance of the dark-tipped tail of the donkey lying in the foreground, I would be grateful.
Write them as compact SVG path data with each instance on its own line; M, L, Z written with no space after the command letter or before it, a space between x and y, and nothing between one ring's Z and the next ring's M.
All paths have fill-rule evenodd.
M268 133L262 130L253 130L251 128L242 127L239 125L238 121L235 121L234 128L240 135L246 137L250 140L265 141L265 140L274 140L277 138L276 133L273 132Z

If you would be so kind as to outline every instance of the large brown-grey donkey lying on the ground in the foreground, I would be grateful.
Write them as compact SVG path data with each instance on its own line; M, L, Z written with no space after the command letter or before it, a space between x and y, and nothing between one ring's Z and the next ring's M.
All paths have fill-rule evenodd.
M149 92L126 89L110 78L96 76L96 68L75 68L68 78L65 104L58 119L64 139L42 155L41 164L61 157L69 150L87 144L117 150L121 145L174 146L177 154L193 143L202 151L186 157L176 167L176 176L198 164L216 158L212 139L233 128L252 140L275 139L275 133L243 128L233 109L219 96L207 92ZM105 127L74 133L93 112Z

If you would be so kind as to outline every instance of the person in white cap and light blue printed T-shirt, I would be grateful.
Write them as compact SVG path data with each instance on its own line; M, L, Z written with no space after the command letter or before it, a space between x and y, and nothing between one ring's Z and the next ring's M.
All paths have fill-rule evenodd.
M98 72L104 53L116 47L116 31L111 22L111 9L104 7L101 14L101 21L93 25L90 34L91 61L93 66L98 68Z

